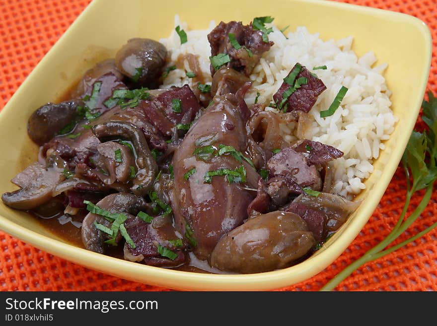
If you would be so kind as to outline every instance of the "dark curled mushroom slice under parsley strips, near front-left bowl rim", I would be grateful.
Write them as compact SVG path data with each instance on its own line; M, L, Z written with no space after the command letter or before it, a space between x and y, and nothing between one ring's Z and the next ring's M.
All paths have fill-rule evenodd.
M149 211L150 209L144 198L125 193L108 195L97 202L96 205L111 213L124 213L130 218L135 218L130 214L136 215L140 210ZM103 216L88 213L82 222L82 242L86 249L103 254L105 251L104 241L110 239L110 236L96 229L94 222L111 227L111 223ZM121 235L118 233L115 241L118 243L120 240Z

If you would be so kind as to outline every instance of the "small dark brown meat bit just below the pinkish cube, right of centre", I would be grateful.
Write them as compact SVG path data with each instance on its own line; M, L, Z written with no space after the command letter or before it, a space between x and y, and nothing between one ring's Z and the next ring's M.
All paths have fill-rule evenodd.
M290 196L303 193L302 187L288 177L274 177L267 181L267 194L277 206L282 206L290 201Z

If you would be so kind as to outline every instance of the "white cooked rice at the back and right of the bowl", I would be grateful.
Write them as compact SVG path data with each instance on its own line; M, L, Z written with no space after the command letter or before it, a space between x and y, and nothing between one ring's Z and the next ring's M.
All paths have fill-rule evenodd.
M188 37L188 42L180 44L179 36L173 31L169 38L160 42L171 52L171 60L176 62L181 54L193 53L200 56L204 79L211 83L210 60L211 48L208 33L217 25L210 23L206 30L188 30L187 24L175 16L175 26L180 25ZM352 198L365 189L364 179L373 172L373 160L379 157L379 151L385 148L382 143L390 137L398 118L390 109L391 92L387 89L382 72L386 64L373 67L376 57L367 52L360 58L351 50L353 38L323 41L319 34L310 34L305 27L286 36L273 24L269 39L275 45L264 53L259 64L249 76L252 88L246 94L246 103L253 104L256 93L260 103L272 101L273 94L283 83L284 77L298 62L316 73L327 89L318 97L309 112L314 119L305 138L334 146L345 153L342 158L334 160L334 191L342 196ZM326 70L312 70L312 67L326 65ZM190 71L188 63L185 69L170 71L162 87L170 85L193 86L186 76ZM341 86L348 88L341 106L334 115L320 118L320 111L326 110L334 100ZM266 111L276 111L267 107ZM293 135L294 126L281 128L284 138L291 142L297 138Z

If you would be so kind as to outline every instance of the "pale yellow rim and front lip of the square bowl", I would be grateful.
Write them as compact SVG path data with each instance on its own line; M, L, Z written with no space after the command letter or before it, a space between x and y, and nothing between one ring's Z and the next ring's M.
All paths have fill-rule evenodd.
M18 96L17 94L19 93L20 89L24 88L30 82L32 77L38 73L39 70L44 69L46 65L50 65L50 57L54 55L56 49L60 47L60 44L62 44L63 40L68 37L69 33L74 29L74 27L80 24L81 21L86 19L86 16L89 14L89 12L94 7L97 7L100 2L103 1L104 0L91 1L88 6L77 16L71 26L59 38L55 45L47 52L47 54L42 58L40 63L35 66L35 68L27 76L24 82L9 99L8 103L0 112L0 119L3 116L2 113L13 109L11 103L13 103L14 98ZM428 60L423 63L423 65L428 67L425 68L425 71L427 71L427 75L426 78L424 77L424 80L419 87L421 94L425 93L432 58L432 38L430 30L422 20L417 17L399 12L364 7L348 3L319 0L295 0L295 2L313 2L322 6L343 9L346 8L354 12L361 11L371 13L372 15L384 17L390 16L392 19L402 19L403 21L414 25L415 28L417 28L421 32L422 36L426 40L425 51L429 53ZM417 100L416 102L416 106L414 107L414 110L412 110L412 116L415 117L417 120L417 116L419 115L422 104L422 99L420 99L420 101ZM410 135L412 130L414 129L416 120L411 119L411 121L408 123L408 128L407 130L405 130L408 131L408 135ZM384 174L381 179L384 179L386 187L388 186L392 176L396 171L407 142L408 137L402 137L401 139L399 139L399 143L395 146L391 154L391 160L396 161L397 164L390 164L384 169ZM150 278L149 284L181 290L272 290L284 286L289 286L291 284L295 284L297 282L308 279L309 277L316 275L333 261L335 261L360 233L360 231L372 215L372 212L376 208L381 197L383 196L386 187L377 187L376 189L373 189L373 191L376 193L373 196L378 200L367 203L365 206L360 206L358 208L360 210L364 210L364 213L362 214L367 217L362 219L354 219L353 221L351 221L351 223L348 225L348 232L339 236L337 239L335 239L335 241L332 241L331 243L328 242L329 245L326 246L323 252L321 252L319 255L313 255L307 260L288 268L257 274L204 274L161 267L153 267L131 261L124 261L121 259L97 254L82 248L75 247L72 244L50 238L48 236L27 229L21 225L18 225L1 215L0 229L36 248L39 248L57 257L117 277L128 278L133 281L144 283L144 274L146 274ZM108 266L111 266L112 269L108 270ZM121 271L123 270L129 270L131 274L121 274ZM265 282L266 278L269 278L269 282Z

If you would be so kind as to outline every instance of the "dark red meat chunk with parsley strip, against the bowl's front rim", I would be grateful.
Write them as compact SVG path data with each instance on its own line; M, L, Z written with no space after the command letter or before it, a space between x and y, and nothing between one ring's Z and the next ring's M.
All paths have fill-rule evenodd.
M185 246L177 246L174 243L175 240L179 242L182 239L176 235L170 216L154 217L151 223L136 217L127 220L125 226L129 237L135 243L135 249L128 243L125 244L125 260L160 267L176 267L187 260ZM177 256L174 259L162 256L158 252L158 246L170 250Z

